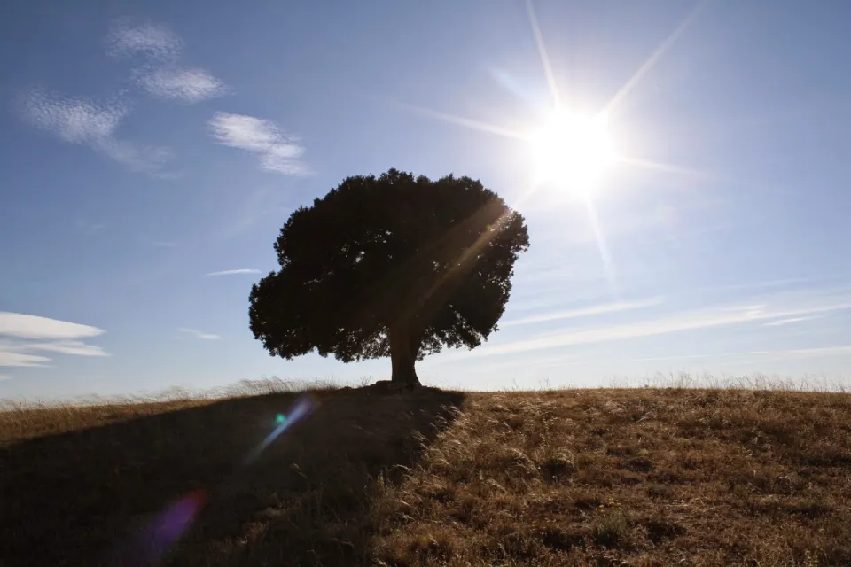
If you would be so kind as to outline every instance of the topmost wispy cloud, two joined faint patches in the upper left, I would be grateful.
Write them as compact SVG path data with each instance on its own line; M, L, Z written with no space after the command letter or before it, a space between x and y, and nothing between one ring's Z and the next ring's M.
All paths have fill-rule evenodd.
M148 94L190 104L223 96L227 92L224 83L207 70L176 65L182 50L179 35L151 22L121 20L106 36L110 55L144 57L145 63L133 71L133 79Z

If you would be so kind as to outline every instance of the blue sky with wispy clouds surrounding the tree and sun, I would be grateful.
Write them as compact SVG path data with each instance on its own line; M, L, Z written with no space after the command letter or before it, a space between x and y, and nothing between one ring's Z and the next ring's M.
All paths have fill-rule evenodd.
M501 330L421 362L427 384L846 379L851 5L533 13L4 4L0 396L387 377L386 360L269 357L247 297L294 207L389 167L479 178L530 230ZM553 88L575 113L610 111L623 159L593 215L575 194L530 193L528 144L505 136L546 120Z

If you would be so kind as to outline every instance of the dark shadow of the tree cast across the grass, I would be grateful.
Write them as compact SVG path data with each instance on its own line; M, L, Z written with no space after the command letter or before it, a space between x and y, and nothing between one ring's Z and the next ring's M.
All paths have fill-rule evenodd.
M316 408L244 465L296 398L216 401L0 448L0 565L371 563L382 483L416 463L463 394L316 392ZM183 509L163 517L176 501Z

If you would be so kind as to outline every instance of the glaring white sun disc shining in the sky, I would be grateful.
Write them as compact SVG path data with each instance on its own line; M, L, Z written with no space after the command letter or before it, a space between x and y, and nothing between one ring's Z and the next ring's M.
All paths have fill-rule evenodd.
M588 194L614 163L605 116L559 112L529 136L535 183Z

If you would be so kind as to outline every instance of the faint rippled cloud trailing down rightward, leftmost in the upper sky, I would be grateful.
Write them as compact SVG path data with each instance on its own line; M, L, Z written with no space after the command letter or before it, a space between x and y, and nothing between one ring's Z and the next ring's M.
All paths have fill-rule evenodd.
M35 90L24 97L22 109L24 118L35 128L71 144L87 145L133 171L161 175L163 165L171 158L166 148L138 146L115 137L115 130L128 113L119 100L98 103Z

